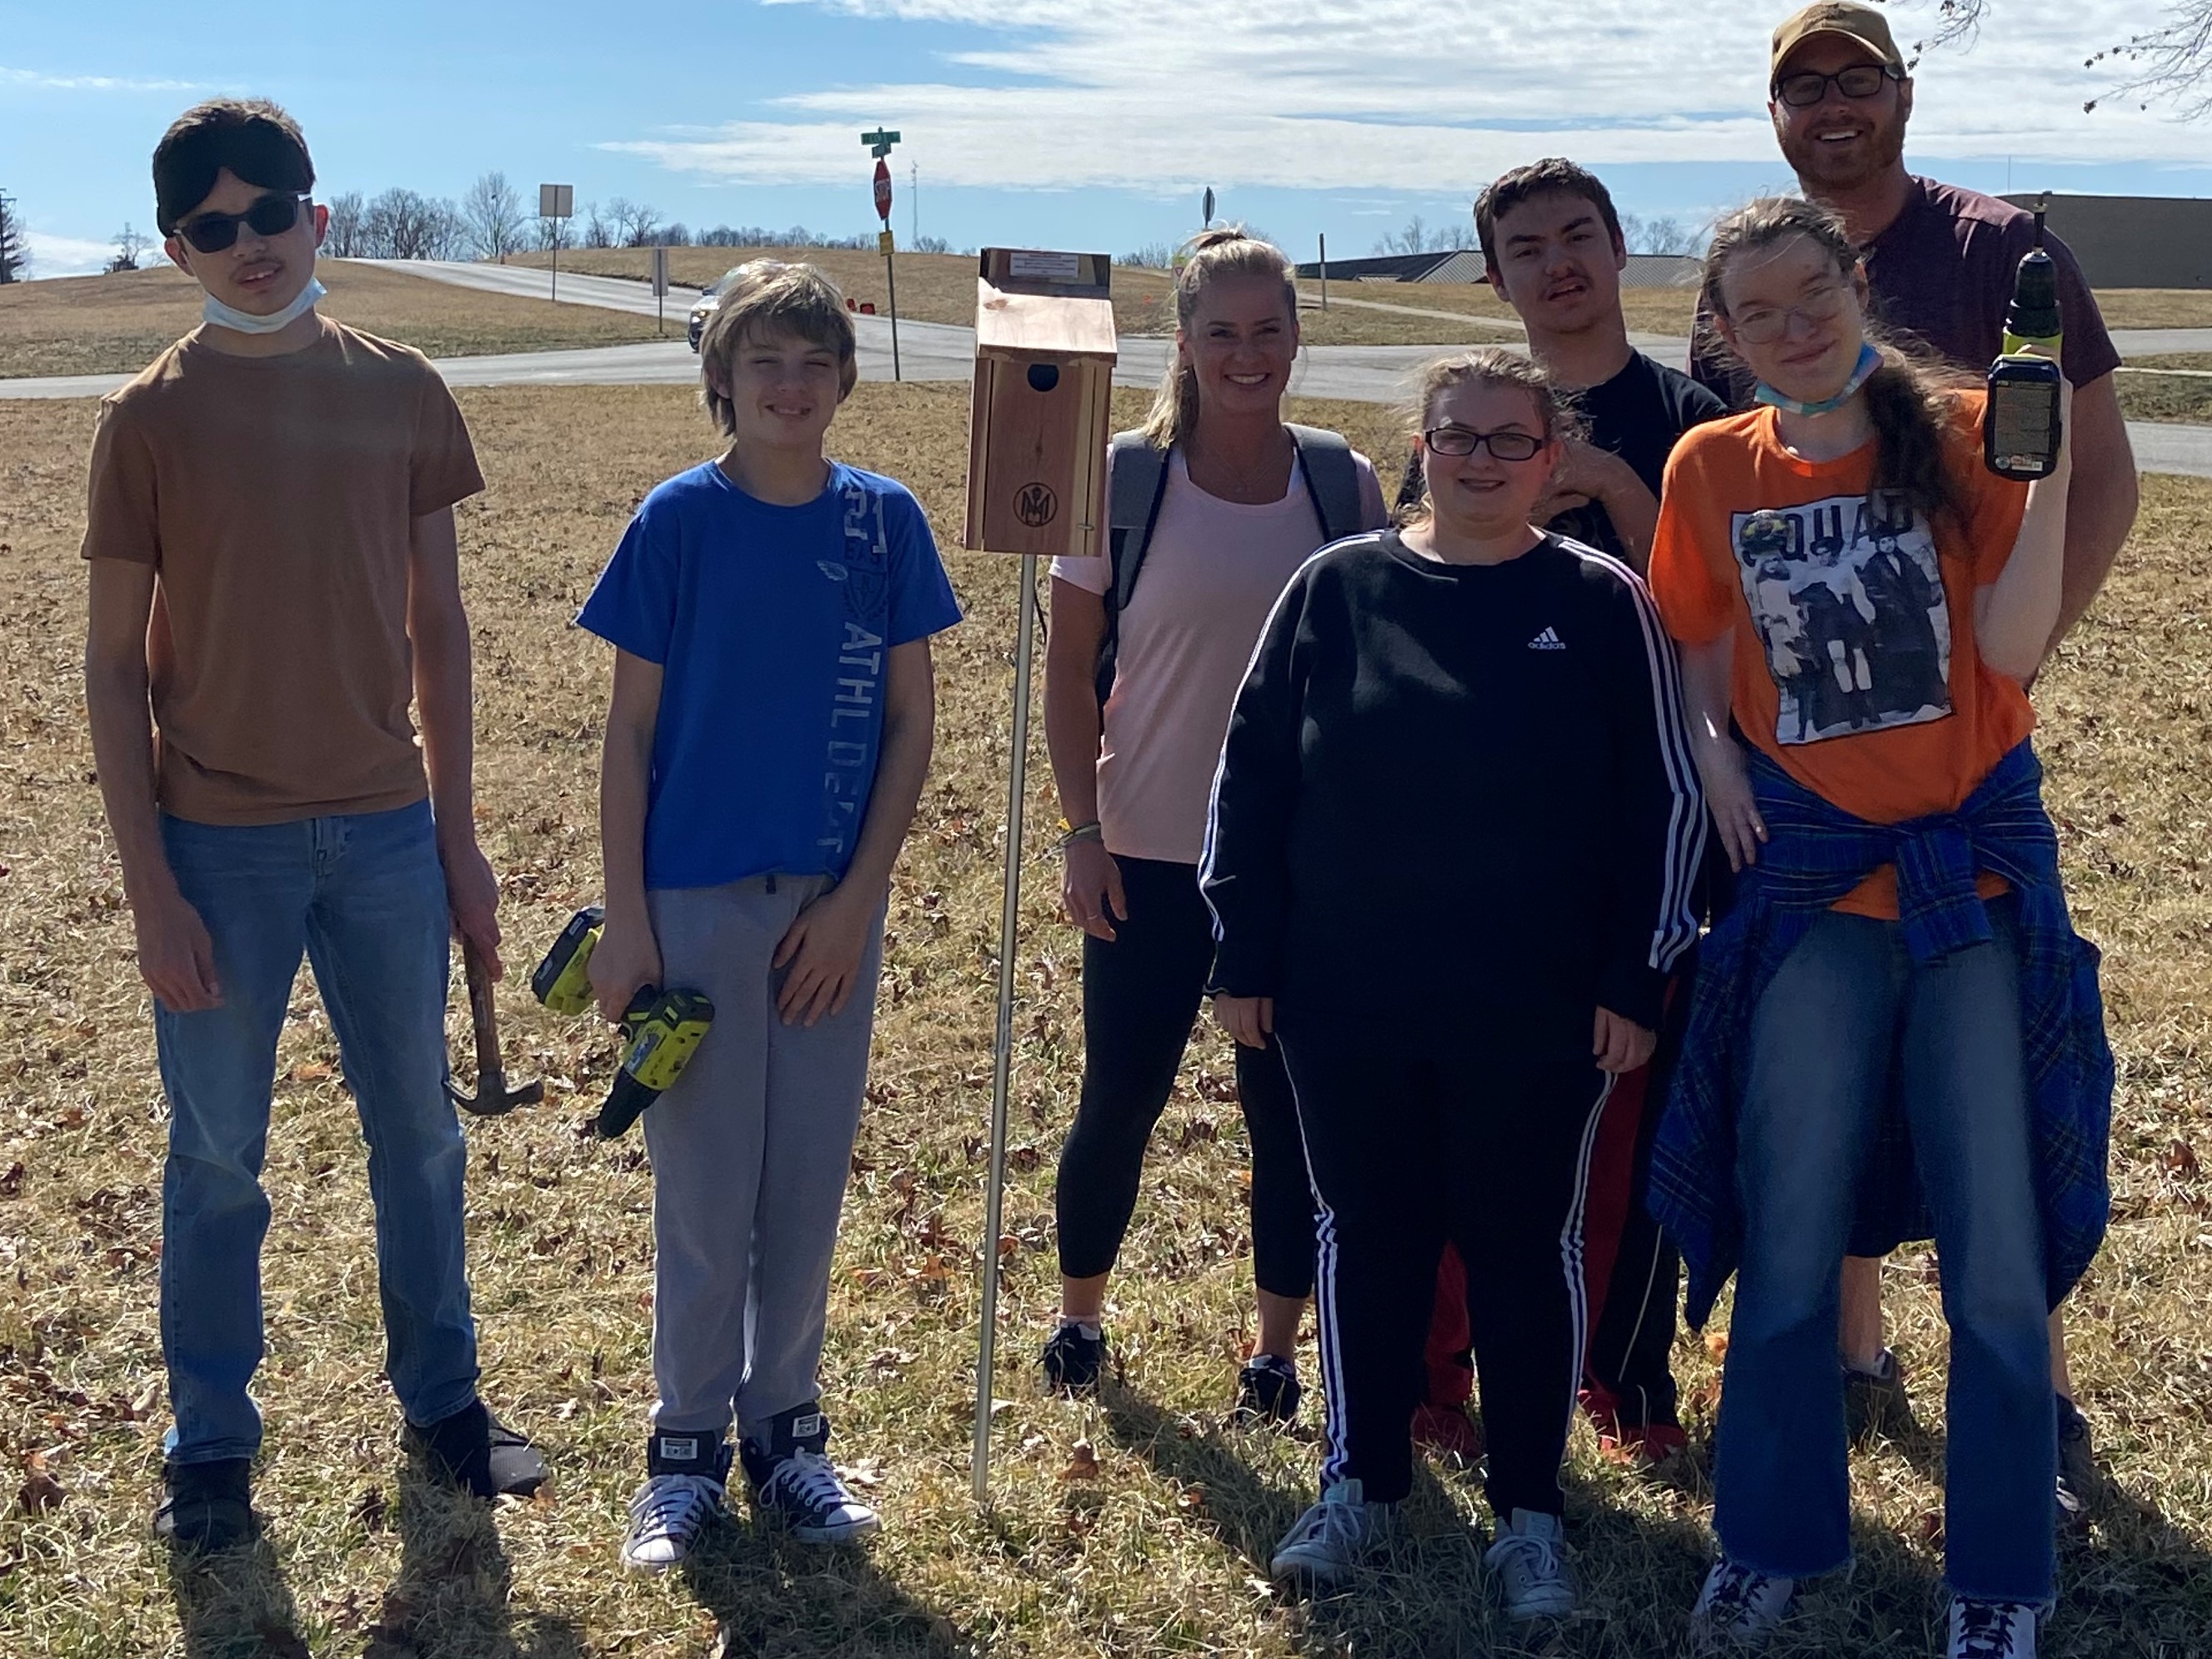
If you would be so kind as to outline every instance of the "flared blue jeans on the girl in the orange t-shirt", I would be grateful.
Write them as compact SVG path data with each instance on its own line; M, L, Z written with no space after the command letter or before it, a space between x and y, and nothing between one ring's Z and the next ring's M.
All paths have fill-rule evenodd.
M1997 938L1936 962L1896 922L1829 911L1752 1015L1714 1469L1732 1562L1812 1577L1851 1553L1838 1270L1893 1066L1951 1327L1944 1575L1966 1597L2051 1599L2057 1422L2013 909L1995 900Z

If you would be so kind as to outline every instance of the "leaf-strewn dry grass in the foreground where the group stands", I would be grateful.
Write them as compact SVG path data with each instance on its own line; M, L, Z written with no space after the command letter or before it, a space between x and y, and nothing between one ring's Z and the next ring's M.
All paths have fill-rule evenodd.
M568 628L639 495L708 453L681 389L462 392L489 491L462 509L478 639L482 838L526 964L597 894L606 653ZM1121 394L1117 420L1141 398ZM1305 405L1396 453L1374 407ZM834 1451L887 1517L805 1553L739 1522L690 1571L624 1575L648 1374L650 1179L637 1139L580 1133L611 1042L502 991L509 1075L546 1104L471 1124L469 1230L489 1398L544 1444L535 1502L427 1489L378 1378L369 1201L312 984L279 1062L268 1188L263 1540L173 1566L146 1533L166 1425L155 1325L161 1091L80 697L75 562L93 407L0 405L0 1652L31 1659L701 1659L703 1655L1579 1655L1681 1650L1708 1559L1712 1347L1683 1338L1692 1453L1657 1473L1573 1444L1586 1613L1509 1630L1486 1515L1431 1467L1391 1571L1301 1604L1265 1582L1310 1500L1314 1407L1225 1427L1250 1338L1243 1128L1223 1046L1194 1044L1113 1298L1099 1402L1044 1398L1051 1177L1079 1073L1077 942L1055 918L1037 741L1018 958L995 1504L969 1502L982 1146L1015 566L953 555L969 622L940 641L933 779L891 900L872 1108L834 1276ZM834 436L958 524L964 387L863 385ZM2110 1469L2064 1555L2044 1652L2212 1652L2212 487L2150 480L2135 544L2042 679L2044 757L2081 927L2106 949L2117 1217L2075 1303L2075 1365ZM1440 827L1440 834L1449 834ZM456 998L456 1004L460 1000ZM460 1031L456 1015L456 1033ZM1940 1648L1942 1332L1933 1265L1891 1270L1922 1433L1854 1460L1858 1573L1774 1652ZM1314 1376L1312 1352L1305 1358ZM20 1486L20 1493L18 1493Z

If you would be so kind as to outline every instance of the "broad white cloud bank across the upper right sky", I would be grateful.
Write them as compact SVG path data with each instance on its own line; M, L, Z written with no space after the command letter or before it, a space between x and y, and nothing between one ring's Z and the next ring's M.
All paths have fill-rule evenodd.
M1783 0L781 0L878 24L995 35L933 75L772 100L783 119L668 128L604 148L708 179L847 184L891 119L940 184L1199 184L1460 192L1535 155L1765 161L1767 31ZM1924 13L1924 15L1922 15ZM2004 29L1922 64L1911 144L1931 157L2203 161L2203 133L2135 108L2084 58L2139 29L2130 0L2006 0ZM1933 0L1898 7L1898 35ZM971 84L960 73L971 71ZM1011 80L1011 84L1009 84Z

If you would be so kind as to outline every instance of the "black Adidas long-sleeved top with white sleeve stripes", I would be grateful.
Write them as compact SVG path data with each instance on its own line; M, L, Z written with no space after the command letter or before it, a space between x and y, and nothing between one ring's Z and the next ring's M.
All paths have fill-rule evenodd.
M1703 845L1674 653L1628 566L1555 535L1489 566L1358 535L1292 577L1237 697L1210 989L1276 998L1285 1029L1657 1026Z

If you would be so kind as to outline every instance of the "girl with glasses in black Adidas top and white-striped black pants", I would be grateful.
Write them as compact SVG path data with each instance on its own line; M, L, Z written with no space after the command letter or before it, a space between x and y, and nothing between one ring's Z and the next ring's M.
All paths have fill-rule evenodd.
M1321 1201L1323 1502L1279 1575L1332 1579L1411 1486L1429 1287L1467 1261L1506 1610L1564 1613L1582 1188L1697 936L1705 838L1666 630L1528 513L1542 369L1429 369L1431 518L1318 553L1237 699L1201 869L1214 1013L1283 1046Z

